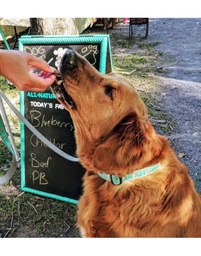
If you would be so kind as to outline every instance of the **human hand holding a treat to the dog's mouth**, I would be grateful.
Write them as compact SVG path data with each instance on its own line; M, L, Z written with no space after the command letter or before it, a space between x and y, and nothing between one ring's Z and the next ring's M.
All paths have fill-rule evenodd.
M42 70L35 75L33 70ZM32 54L18 50L0 50L0 74L22 91L44 92L56 79L56 69Z

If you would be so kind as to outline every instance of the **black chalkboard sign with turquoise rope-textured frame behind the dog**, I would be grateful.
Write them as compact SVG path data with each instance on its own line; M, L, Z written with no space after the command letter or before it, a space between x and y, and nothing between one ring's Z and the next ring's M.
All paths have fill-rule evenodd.
M109 35L22 36L19 49L58 68L66 49L73 49L100 72L112 71ZM35 73L39 70L35 70ZM76 157L74 126L67 110L50 89L44 93L20 92L25 118L56 147ZM23 191L77 203L85 169L56 154L21 122L21 188Z

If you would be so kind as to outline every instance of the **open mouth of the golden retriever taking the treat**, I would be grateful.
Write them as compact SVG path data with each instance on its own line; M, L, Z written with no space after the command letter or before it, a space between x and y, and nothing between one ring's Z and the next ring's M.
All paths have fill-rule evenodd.
M52 91L55 93L56 98L62 102L63 104L66 104L72 109L77 109L77 105L72 99L72 97L68 94L67 90L64 87L63 81L61 79L61 74L59 70L56 70L52 73L53 75L56 75L55 82L51 85Z

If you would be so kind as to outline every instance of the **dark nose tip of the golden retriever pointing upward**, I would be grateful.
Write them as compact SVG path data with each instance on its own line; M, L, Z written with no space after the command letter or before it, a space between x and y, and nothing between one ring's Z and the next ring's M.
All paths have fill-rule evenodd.
M59 70L61 73L65 72L65 70L72 70L73 68L78 66L78 58L75 51L67 49L63 58L61 59L61 63L59 65Z

